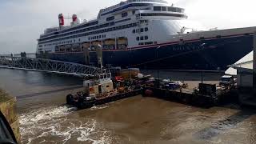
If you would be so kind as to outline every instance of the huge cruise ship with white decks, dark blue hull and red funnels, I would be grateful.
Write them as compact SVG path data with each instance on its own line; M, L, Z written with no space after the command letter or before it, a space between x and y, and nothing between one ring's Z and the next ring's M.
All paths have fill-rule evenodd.
M206 30L164 0L127 0L90 21L74 14L69 26L63 14L58 20L40 35L38 58L97 65L100 47L104 66L159 70L226 70L253 50L256 31Z

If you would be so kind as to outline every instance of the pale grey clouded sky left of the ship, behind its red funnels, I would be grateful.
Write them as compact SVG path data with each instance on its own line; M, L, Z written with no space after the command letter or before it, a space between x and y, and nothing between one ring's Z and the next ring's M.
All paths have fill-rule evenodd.
M118 0L0 0L0 54L34 52L46 27L58 26L58 14L95 18Z

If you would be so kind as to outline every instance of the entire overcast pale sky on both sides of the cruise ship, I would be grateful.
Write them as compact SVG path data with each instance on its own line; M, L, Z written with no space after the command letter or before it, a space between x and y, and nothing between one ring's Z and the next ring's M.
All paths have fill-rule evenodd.
M39 34L58 26L58 14L95 18L98 10L120 0L0 0L0 54L34 52ZM255 0L174 0L190 20L206 28L256 26Z

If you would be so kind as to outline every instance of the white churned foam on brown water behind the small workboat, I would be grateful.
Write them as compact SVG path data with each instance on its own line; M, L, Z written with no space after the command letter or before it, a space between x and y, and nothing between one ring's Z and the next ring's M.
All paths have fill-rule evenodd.
M80 118L74 110L58 106L20 115L22 143L110 143L110 132L102 129L101 123Z

